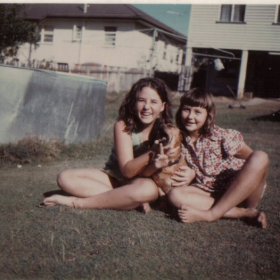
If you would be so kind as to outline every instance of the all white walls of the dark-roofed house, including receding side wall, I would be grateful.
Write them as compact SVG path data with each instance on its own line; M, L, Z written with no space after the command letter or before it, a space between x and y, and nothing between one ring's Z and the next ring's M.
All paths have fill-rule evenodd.
M84 26L81 41L73 40L73 26ZM54 28L53 41L39 43L39 47L32 52L32 59L36 62L67 63L72 68L75 64L95 63L106 66L119 66L138 69L149 69L153 32L136 30L134 22L120 20L54 20L45 19L40 22L41 27ZM116 45L105 45L104 27L117 27ZM139 25L137 28L140 29ZM144 29L142 27L141 29ZM152 66L158 66L162 71L178 71L181 66L183 50L176 43L169 42L165 49L164 41L157 41L154 45ZM166 58L163 58L167 52ZM20 62L27 64L29 44L22 46L19 52ZM179 59L176 60L177 55Z

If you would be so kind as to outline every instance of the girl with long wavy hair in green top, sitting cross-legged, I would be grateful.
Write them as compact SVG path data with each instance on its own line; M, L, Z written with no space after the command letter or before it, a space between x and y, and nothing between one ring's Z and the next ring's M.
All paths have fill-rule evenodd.
M149 136L155 120L171 123L172 104L162 80L143 78L132 86L119 109L114 126L115 145L104 169L69 169L59 174L57 184L71 196L52 195L45 205L76 208L130 210L158 198L152 179L141 177L151 168L151 158L159 145L151 147ZM168 153L168 147L165 148ZM153 167L152 167L153 169Z

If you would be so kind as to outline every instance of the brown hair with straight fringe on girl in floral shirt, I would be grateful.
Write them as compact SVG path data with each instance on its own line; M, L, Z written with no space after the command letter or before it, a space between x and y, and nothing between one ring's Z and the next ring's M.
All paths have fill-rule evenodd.
M181 112L183 106L201 107L207 110L207 119L200 129L200 134L203 136L211 134L216 118L216 106L212 94L199 87L195 87L188 92L185 92L180 100L180 107L176 113L176 125L182 132L186 132L186 128L182 123Z

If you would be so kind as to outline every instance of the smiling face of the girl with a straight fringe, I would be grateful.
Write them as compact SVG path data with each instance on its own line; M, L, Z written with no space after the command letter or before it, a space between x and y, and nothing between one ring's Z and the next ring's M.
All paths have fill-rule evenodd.
M202 107L184 105L181 111L182 124L192 139L197 139L207 120L207 110Z

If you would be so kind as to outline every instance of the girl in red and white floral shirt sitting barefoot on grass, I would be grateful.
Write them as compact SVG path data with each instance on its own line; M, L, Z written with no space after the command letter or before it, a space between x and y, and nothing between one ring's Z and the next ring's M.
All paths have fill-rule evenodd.
M185 223L246 218L267 227L264 213L255 209L265 190L269 159L252 151L236 130L214 125L214 100L195 88L181 97L176 123L186 133L183 153L196 177L190 186L173 188L169 202ZM183 179L174 174L174 180Z

